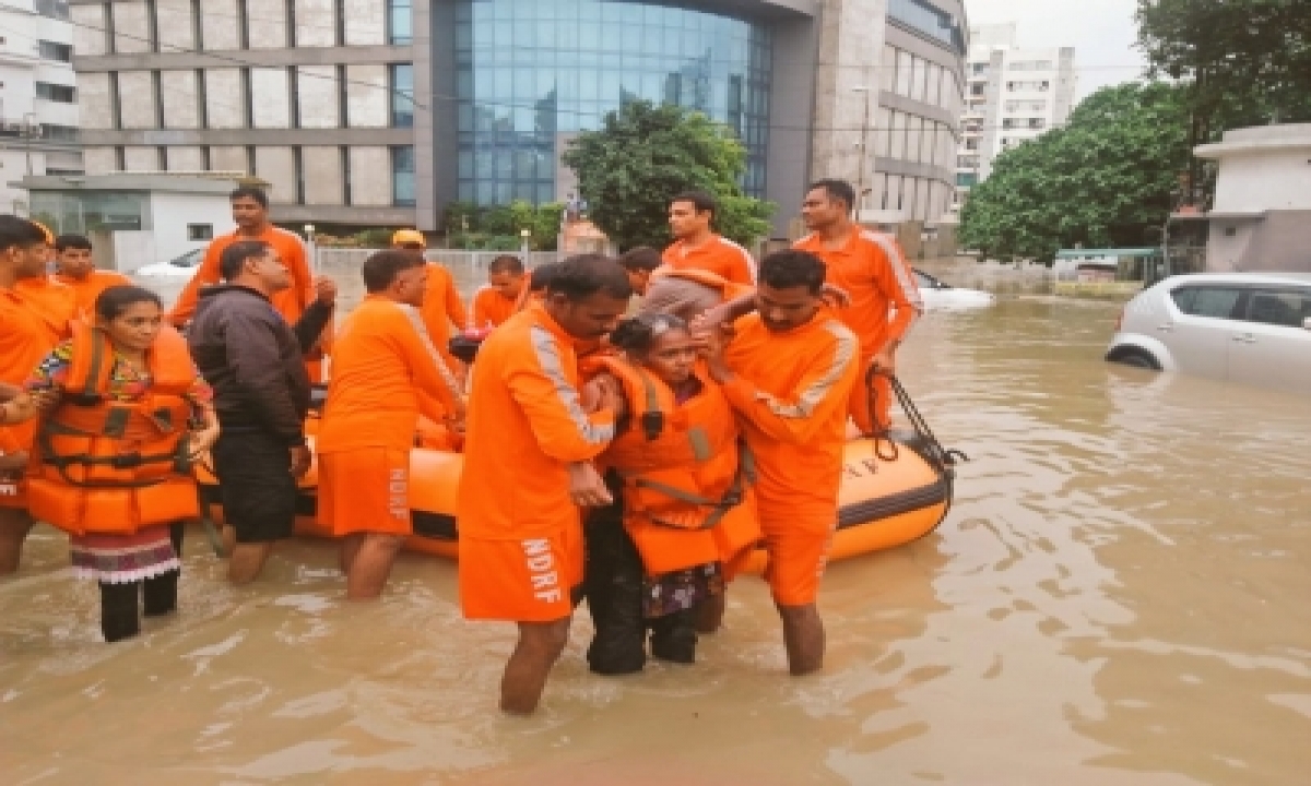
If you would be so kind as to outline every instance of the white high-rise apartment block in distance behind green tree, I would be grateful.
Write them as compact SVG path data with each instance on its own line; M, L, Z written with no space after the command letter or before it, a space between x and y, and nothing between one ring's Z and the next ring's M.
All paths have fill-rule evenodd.
M1074 56L1071 47L1017 47L1015 22L970 30L957 208L998 155L1065 124L1078 88Z

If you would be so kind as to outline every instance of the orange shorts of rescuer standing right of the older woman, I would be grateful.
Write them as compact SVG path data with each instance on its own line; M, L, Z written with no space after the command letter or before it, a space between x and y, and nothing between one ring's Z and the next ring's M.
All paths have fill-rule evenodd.
M838 525L836 511L823 521L779 517L760 519L764 532L764 550L770 559L764 566L764 580L779 605L796 607L815 601L819 579L829 566L829 549Z

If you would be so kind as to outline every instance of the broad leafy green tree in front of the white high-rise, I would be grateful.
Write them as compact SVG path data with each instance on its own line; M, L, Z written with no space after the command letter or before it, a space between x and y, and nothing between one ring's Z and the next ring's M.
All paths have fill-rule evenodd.
M961 244L994 257L1135 246L1160 227L1188 165L1184 88L1104 88L1063 128L1003 152L961 210Z

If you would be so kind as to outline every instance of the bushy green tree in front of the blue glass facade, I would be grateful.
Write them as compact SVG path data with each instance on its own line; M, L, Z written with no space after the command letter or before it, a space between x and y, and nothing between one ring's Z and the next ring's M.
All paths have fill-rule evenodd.
M680 106L628 101L561 160L578 173L587 215L620 248L670 241L669 199L699 189L720 203L716 229L747 245L770 231L773 204L742 193L746 149L722 124Z

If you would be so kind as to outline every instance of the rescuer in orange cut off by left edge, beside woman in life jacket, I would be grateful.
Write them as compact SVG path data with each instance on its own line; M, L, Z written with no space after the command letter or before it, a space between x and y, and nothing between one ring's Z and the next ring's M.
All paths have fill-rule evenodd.
M0 215L0 383L24 384L77 318L72 291L46 274L51 241L41 224ZM31 531L24 468L35 434L34 421L0 424L0 575L18 570Z

